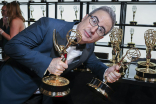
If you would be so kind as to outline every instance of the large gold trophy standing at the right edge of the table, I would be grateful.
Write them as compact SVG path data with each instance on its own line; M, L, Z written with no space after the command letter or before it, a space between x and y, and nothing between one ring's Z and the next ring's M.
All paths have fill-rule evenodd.
M150 62L151 51L153 50L154 44L156 42L156 31L153 29L148 29L144 33L145 44L146 44L146 61L139 61L138 66L145 66L142 68L136 68L135 79L142 80L145 82L155 82L156 81L156 70L152 67L155 66L154 63Z

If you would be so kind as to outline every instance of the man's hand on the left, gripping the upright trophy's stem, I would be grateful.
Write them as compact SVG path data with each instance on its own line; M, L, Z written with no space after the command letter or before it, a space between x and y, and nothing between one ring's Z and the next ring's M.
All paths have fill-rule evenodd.
M55 75L61 75L63 71L68 68L67 61L63 62L61 61L61 59L62 58L53 58L53 60L51 61L47 69L49 73Z

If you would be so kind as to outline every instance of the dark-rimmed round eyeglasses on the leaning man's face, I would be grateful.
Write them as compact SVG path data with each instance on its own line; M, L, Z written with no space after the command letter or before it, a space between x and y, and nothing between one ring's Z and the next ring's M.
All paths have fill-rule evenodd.
M90 16L90 19L89 19L89 23L92 25L92 26L98 26L98 29L96 30L97 34L99 36L105 36L105 28L104 27L101 27L98 25L99 21L98 21L98 18L95 17L95 16Z

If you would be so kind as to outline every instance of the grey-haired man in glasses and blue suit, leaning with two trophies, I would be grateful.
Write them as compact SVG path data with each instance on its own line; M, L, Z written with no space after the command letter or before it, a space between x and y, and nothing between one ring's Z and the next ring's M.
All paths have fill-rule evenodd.
M46 71L63 76L82 63L99 79L103 80L107 76L108 82L117 81L120 78L116 71L119 70L119 66L108 68L94 55L94 42L109 33L115 21L113 10L103 6L86 15L78 24L43 17L16 35L5 45L5 52L11 58L0 71L0 103L22 104L40 86ZM69 52L64 63L54 48L53 30L56 29L56 33L60 35L60 38L57 38L58 43L65 45L66 33L72 28L80 31L82 39L79 44L85 45L85 48L83 51L75 50L80 58L68 63L71 54Z

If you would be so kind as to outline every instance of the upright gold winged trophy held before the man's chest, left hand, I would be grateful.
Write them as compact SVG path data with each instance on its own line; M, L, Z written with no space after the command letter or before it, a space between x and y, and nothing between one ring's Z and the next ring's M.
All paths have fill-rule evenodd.
M69 33L72 32L74 35L69 36ZM69 30L67 35L67 44L59 45L56 39L56 30L53 31L53 43L56 51L62 57L62 61L65 62L67 59L66 49L70 45L78 44L81 41L81 34L78 30ZM77 42L74 40L77 39ZM69 80L55 75L49 75L42 78L42 85L40 87L41 93L50 97L63 97L70 93Z

